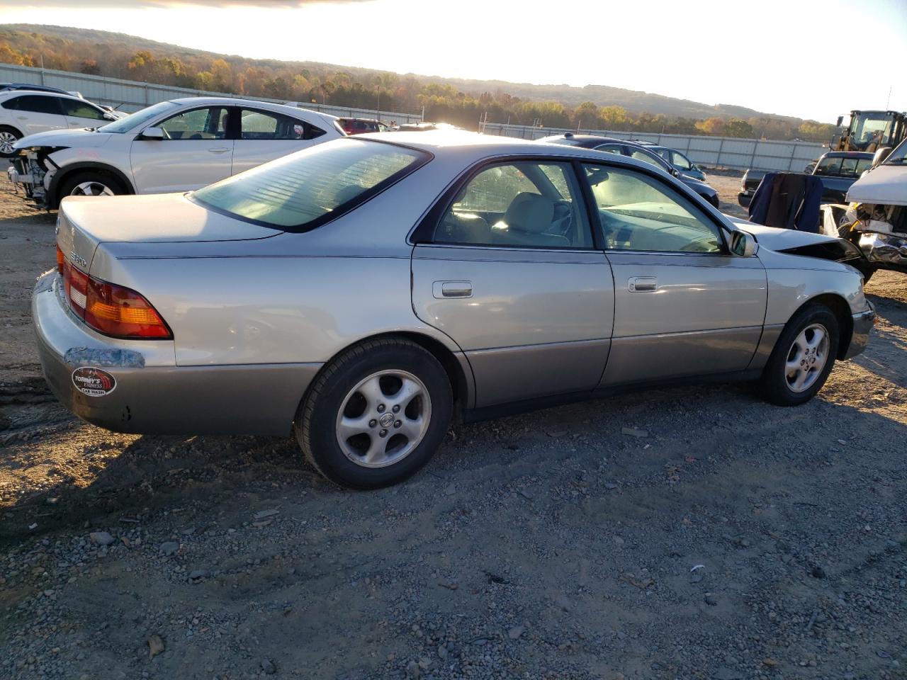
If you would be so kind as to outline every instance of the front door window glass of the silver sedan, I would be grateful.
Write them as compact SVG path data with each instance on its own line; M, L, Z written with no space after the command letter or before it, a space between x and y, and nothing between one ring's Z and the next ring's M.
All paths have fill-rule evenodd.
M647 252L724 251L717 225L655 178L620 168L584 165L599 209L605 248Z

